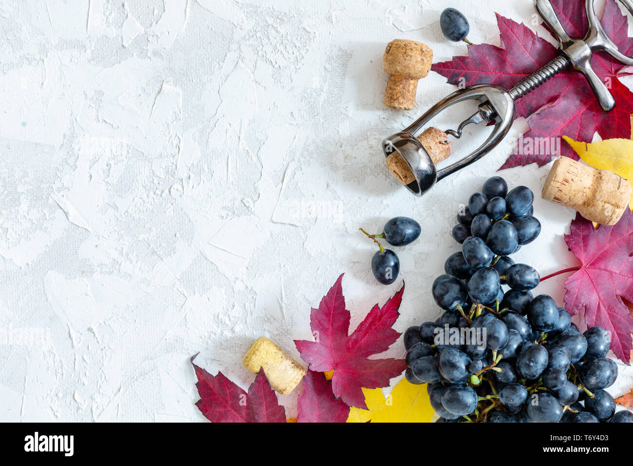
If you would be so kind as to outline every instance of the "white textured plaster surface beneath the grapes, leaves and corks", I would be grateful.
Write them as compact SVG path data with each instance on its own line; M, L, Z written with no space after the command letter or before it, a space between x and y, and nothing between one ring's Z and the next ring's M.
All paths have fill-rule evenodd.
M266 335L298 358L292 340L311 337L310 307L344 271L354 327L399 287L375 282L358 227L396 215L423 226L399 252L396 327L436 318L430 285L458 249L456 209L510 150L423 198L385 169L380 139L454 90L431 73L414 110L386 109L385 44L464 55L441 36L445 6L0 1L0 420L204 420L192 354L248 387L251 342ZM473 42L499 44L493 11L534 14L525 0L452 6ZM503 176L539 193L548 169ZM575 265L563 242L574 212L538 197L536 216L544 230L515 259L542 275ZM564 278L538 291L562 304ZM613 390L631 385L629 369ZM280 399L293 416L296 393Z

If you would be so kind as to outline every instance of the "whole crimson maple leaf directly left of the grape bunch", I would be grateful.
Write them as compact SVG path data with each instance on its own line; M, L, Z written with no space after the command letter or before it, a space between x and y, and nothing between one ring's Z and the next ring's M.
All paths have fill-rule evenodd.
M368 359L372 354L386 351L400 336L391 326L399 316L404 285L384 306L376 304L348 335L351 314L345 309L342 278L339 276L318 309L313 308L310 313L310 328L316 341L294 343L311 370L334 370L332 391L337 398L349 406L367 409L361 387L386 387L389 379L406 368L403 359Z

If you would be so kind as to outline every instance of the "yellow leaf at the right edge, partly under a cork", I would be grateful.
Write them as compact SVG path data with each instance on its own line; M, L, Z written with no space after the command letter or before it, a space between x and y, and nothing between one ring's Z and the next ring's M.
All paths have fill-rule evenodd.
M633 118L631 121L633 124ZM631 134L633 138L633 125ZM572 146L580 159L595 169L611 171L629 180L629 183L633 181L632 139L605 139L596 143L574 141L568 136L563 136L563 139ZM629 207L633 210L633 197L630 198Z

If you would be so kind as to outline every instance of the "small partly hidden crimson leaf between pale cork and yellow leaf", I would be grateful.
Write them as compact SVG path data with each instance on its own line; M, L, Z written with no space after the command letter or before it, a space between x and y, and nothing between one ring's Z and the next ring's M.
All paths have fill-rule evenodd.
M297 410L297 422L346 422L349 415L349 406L334 396L332 382L311 370L303 377Z

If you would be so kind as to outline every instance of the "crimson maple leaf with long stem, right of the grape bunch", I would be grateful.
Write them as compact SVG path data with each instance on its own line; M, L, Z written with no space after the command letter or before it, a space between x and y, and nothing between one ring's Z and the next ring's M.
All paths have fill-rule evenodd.
M565 307L571 314L584 307L587 327L611 332L613 353L628 364L633 318L623 299L633 302L633 213L625 209L617 224L598 228L576 214L565 242L582 264L563 285Z

